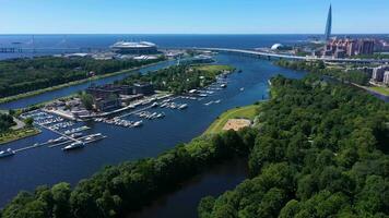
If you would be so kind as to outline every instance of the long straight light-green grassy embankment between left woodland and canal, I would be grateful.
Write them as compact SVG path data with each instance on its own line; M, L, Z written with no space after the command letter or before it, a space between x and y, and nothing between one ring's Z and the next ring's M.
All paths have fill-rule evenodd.
M32 90L32 92L28 92L28 93L23 93L23 94L19 94L19 95L14 95L14 96L4 97L4 98L0 99L0 104L5 104L5 102L14 101L14 100L20 100L20 99L23 99L23 98L37 96L37 95L40 95L40 94L44 94L44 93L58 90L58 89L61 89L61 88L73 86L73 85L79 85L79 84L86 83L86 82L90 82L90 81L92 82L92 81L96 81L96 80L101 80L101 78L106 78L106 77L119 75L119 74L122 74L122 73L128 73L128 72L131 72L131 71L137 71L137 70L140 70L142 68L152 66L152 65L158 64L158 63L164 62L164 61L166 61L166 60L158 61L158 62L155 62L155 63L145 64L145 65L142 65L142 66L126 69L126 70L121 70L121 71L117 71L117 72L108 73L108 74L104 74L104 75L96 75L96 76L92 76L92 77L89 77L89 78L83 78L83 80L80 80L80 81L73 81L73 82L69 82L69 83L64 83L64 84L61 84L61 85L56 85L56 86L38 89L38 90Z

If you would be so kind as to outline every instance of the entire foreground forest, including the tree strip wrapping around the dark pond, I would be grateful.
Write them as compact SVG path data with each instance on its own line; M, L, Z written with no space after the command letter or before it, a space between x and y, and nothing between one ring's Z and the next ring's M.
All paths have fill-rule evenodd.
M20 192L1 217L123 217L236 156L249 157L249 178L204 197L200 218L388 217L389 105L314 74L271 82L258 126L202 135L156 158L109 166L74 187Z

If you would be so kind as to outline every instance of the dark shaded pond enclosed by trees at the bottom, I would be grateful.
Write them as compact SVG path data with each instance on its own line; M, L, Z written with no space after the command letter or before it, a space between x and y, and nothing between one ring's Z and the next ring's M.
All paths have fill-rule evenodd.
M140 211L131 213L131 218L185 217L196 218L202 197L219 196L234 189L248 177L247 159L222 162L185 182L178 190L168 193Z

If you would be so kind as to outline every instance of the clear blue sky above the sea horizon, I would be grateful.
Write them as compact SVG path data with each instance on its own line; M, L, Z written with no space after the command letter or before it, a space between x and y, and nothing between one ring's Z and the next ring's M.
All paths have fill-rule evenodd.
M389 33L389 0L0 0L0 34Z

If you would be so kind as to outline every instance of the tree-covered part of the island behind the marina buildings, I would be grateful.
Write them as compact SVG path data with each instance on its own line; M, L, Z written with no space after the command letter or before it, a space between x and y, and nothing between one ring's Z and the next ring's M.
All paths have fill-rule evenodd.
M233 70L229 66L220 69ZM146 74L135 74L121 81L121 84L133 84L137 82L149 82L158 90L167 90L174 94L181 94L198 87L205 87L216 81L216 75L223 71L215 71L210 68L201 69L189 64L174 65Z

